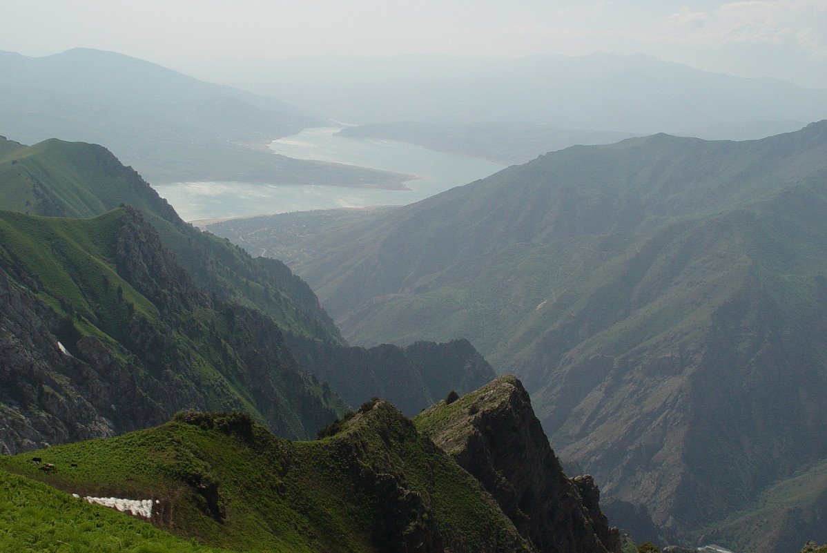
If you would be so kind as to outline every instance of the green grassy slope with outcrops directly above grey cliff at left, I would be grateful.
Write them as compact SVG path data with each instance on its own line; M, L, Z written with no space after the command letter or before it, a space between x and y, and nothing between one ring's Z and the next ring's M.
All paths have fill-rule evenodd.
M134 369L139 371L136 378L143 378L142 371L159 376L171 369L175 379L198 389L208 408L251 412L257 420L288 436L313 434L317 428L306 427L308 421L316 418L311 413L313 408L327 410L327 415L342 411L343 404L338 398L324 393L294 361L290 365L291 359L278 356L285 355L287 346L276 337L258 344L270 355L268 360L255 360L252 367L251 362L245 360L247 369L242 369L238 356L245 353L237 346L233 333L238 332L236 325L251 324L243 314L237 317L229 306L208 303L196 302L196 307L187 309L170 307L189 305L187 302L191 300L184 294L193 292L186 289L185 282L159 282L165 288L155 303L133 288L118 274L121 269L116 242L124 217L127 212L123 208L93 219L0 212L0 266L27 274L38 283L38 296L59 317L71 322L74 331L67 338L71 336L72 341L66 341L66 346L71 348L80 336L95 336L116 358L136 365ZM165 298L171 298L170 303L161 303ZM152 356L140 350L141 345L131 342L131 336L127 336L136 313L140 313L148 325L160 329L156 332L169 332L171 343ZM275 328L270 329L273 331ZM123 346L125 343L131 345ZM281 354L279 347L283 350ZM258 378L277 382L278 397L259 397L264 381L251 384L245 370L263 371L265 374ZM302 401L314 407L299 404ZM304 415L309 418L305 420ZM312 424L322 423L313 420Z

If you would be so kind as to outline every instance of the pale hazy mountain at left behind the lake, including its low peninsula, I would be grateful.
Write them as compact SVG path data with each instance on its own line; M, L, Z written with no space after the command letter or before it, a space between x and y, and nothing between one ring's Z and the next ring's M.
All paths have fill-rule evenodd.
M361 186L399 175L274 155L266 143L325 122L298 107L101 50L0 52L3 132L105 144L153 182L242 180ZM404 180L404 179L402 179Z

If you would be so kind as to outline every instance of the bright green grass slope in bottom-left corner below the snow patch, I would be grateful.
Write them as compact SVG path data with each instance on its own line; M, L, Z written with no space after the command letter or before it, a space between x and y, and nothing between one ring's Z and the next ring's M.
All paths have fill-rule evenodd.
M220 553L0 470L0 549L21 553Z

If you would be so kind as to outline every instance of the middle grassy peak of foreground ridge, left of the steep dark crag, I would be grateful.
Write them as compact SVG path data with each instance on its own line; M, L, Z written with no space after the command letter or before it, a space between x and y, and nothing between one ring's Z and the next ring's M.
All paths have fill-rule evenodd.
M496 498L390 402L363 403L320 432L327 436L338 462L379 505L380 551L537 553ZM476 529L447 519L474 520Z

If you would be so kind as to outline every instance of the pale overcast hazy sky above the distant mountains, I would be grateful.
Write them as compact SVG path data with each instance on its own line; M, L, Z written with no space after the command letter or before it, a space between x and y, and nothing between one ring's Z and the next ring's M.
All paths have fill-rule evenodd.
M643 52L827 87L827 0L0 0L0 50L175 67L310 55Z

